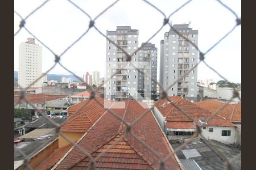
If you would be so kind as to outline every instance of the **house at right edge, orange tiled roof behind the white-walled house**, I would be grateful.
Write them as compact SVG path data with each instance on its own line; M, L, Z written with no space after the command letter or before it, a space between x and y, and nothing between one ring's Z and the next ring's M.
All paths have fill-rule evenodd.
M218 109L222 107L225 103L216 100L204 100L200 102L196 102L196 105L199 107L206 109L211 113L215 113ZM236 144L242 145L241 141L241 133L242 133L242 104L228 104L225 108L221 109L218 113L218 116L225 118L226 120L231 121L234 125L236 125Z

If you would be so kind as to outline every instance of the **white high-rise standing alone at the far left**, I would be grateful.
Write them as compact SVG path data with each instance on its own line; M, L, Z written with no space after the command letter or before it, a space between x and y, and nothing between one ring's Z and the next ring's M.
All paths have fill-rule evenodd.
M29 86L34 80L42 75L42 46L35 44L35 39L19 45L19 73L18 83L22 87ZM31 87L42 87L43 79L32 84Z

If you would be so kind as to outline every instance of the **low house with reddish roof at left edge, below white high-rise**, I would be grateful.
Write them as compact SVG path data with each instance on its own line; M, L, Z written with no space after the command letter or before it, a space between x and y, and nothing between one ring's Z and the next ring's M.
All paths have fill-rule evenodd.
M47 101L51 101L51 100L55 100L63 97L66 97L66 96L65 95L45 95L45 94L34 94L34 95L27 94L26 95L26 99L30 101L31 104L35 105L35 107L38 108L40 111L43 111L43 109L46 109L45 104ZM19 101L19 97L15 97L14 103L18 103L18 102L19 104L16 104L14 108L16 109L26 108L31 110L32 115L38 114L38 111L36 111L30 103L26 103L24 99Z

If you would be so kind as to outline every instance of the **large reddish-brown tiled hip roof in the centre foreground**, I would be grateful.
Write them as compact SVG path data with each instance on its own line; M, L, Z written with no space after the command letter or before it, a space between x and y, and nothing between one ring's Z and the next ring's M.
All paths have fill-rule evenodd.
M110 108L110 110L123 117L127 122L133 122L146 111L135 100L126 100L125 108ZM77 145L95 158L120 138L124 130L125 125L122 121L106 112ZM172 153L170 144L164 138L164 134L152 112L148 112L134 124L131 127L131 132L158 152L162 158ZM73 148L63 161L57 165L56 169L86 169L89 162L90 159L86 155L82 154L77 148ZM96 162L97 169L157 169L158 167L158 157L130 133ZM165 169L180 169L174 155L165 163Z

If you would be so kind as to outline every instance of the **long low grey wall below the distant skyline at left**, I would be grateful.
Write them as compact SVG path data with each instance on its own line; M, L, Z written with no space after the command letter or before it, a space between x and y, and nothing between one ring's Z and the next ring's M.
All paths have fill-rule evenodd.
M75 95L84 91L76 88L42 87L42 93L46 95Z

